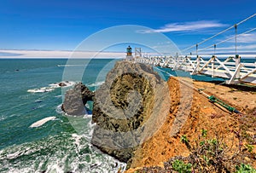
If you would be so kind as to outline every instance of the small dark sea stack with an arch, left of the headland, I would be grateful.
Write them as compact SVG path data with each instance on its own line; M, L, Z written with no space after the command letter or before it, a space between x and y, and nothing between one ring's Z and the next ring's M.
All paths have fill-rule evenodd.
M92 101L93 97L94 92L84 84L75 84L73 89L67 90L61 109L68 115L84 115L84 105L87 101Z

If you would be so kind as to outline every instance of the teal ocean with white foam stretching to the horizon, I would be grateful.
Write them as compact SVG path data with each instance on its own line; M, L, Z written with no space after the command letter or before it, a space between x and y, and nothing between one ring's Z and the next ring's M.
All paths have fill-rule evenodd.
M0 172L117 172L125 164L90 144L92 102L84 117L61 112L63 93L80 78L90 89L104 83L113 59L0 59ZM252 60L253 61L253 60ZM84 70L84 64L87 64ZM162 78L170 69L155 69ZM162 72L165 71L165 72ZM69 72L69 73L67 73ZM167 72L167 73L166 73ZM189 76L189 72L178 72ZM192 76L197 80L220 80ZM68 79L68 81L66 81ZM61 89L57 83L66 82ZM47 91L47 92L46 92ZM38 127L32 124L55 117Z

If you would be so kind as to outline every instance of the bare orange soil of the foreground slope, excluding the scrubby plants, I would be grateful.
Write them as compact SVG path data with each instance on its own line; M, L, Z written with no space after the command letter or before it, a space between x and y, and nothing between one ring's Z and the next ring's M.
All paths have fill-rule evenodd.
M209 102L205 96L195 90L189 90L186 85L179 83L174 78L168 80L168 85L172 99L170 114L166 117L166 121L160 127L160 130L148 141L145 141L142 146L138 147L131 161L131 169L126 172L134 172L134 170L140 167L163 166L164 162L174 156L188 156L189 149L181 141L181 136L187 136L189 142L193 145L195 144L195 139L198 139L198 136L201 135L202 129L207 130L207 136L212 138L216 137L216 134L224 136L227 146L233 148L230 154L237 151L239 141L234 131L237 131L239 128L238 114L227 112L221 107L216 107L216 105ZM197 88L207 88L206 92L208 94L212 93L219 96L221 99L225 97L237 97L236 100L232 99L233 102L231 101L233 106L236 104L236 106L241 105L239 101L244 101L242 98L244 95L247 95L246 93L237 92L237 95L233 96L234 93L229 94L230 89L228 87L217 86L215 84L195 82L194 86ZM227 95L227 93L229 95ZM186 98L189 97L189 95L193 96L193 101L192 107L187 110L189 99L186 101ZM223 97L221 97L221 95L223 95ZM243 104L239 108L247 105L253 109L253 107L255 107L255 97L251 94L250 98L253 98L254 102L247 101L246 104ZM183 104L181 104L180 101L183 101ZM189 116L177 134L171 136L172 124L177 116L177 112L180 110L189 111Z

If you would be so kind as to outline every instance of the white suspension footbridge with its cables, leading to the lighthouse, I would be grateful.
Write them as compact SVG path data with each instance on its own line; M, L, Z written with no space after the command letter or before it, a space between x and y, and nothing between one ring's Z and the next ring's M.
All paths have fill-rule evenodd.
M249 62L242 61L245 57L238 55L237 51L237 37L245 36L250 32L256 30L256 27L250 28L249 30L241 33L237 33L238 26L241 26L247 20L252 20L256 14L247 17L245 20L241 20L234 26L230 26L221 32L208 37L207 39L201 41L200 43L195 43L189 48L183 49L182 52L188 51L189 49L195 49L195 55L189 53L187 55L169 55L169 56L153 56L153 55L142 55L136 49L135 58L133 61L138 63L146 63L152 66L168 67L172 70L181 70L185 72L190 72L192 75L203 74L210 75L212 78L224 78L226 84L240 84L240 83L251 83L256 84L256 48ZM199 46L203 43L207 43L215 37L228 32L231 29L235 29L235 34L231 37L225 37L224 40L218 41L218 43L213 43L205 48L199 49ZM234 55L216 55L216 49L218 45L222 43L227 43L230 40L235 39L235 49ZM256 40L255 40L256 42ZM212 55L200 55L200 51L213 49ZM131 50L130 50L131 51ZM139 49L141 51L141 49ZM131 52L130 52L131 53Z

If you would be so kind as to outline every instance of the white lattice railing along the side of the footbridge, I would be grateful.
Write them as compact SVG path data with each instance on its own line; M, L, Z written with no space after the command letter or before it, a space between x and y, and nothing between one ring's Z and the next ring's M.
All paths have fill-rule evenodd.
M209 59L201 56L197 56L196 59L190 56L148 56L138 58L136 61L152 66L168 67L172 70L182 70L192 75L204 74L212 78L228 78L227 84L241 82L256 84L256 62L243 63L240 56L230 56L224 60L215 55Z

